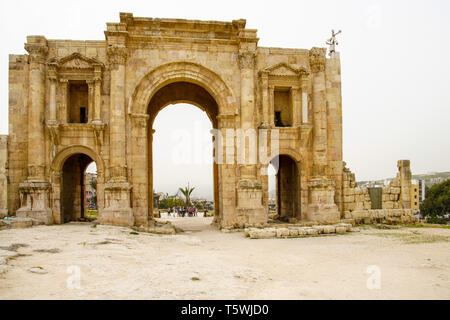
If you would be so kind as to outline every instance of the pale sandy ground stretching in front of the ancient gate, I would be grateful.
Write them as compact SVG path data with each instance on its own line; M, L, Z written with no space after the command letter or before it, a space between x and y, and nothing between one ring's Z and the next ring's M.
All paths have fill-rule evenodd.
M0 246L27 245L0 275L0 299L450 299L449 229L250 240L210 218L171 221L186 232L75 223L0 231Z

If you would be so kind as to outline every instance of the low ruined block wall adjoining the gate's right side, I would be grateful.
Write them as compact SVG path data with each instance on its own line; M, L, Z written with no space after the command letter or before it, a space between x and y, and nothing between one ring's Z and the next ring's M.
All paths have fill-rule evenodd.
M344 162L342 177L345 219L355 219L357 223L408 223L415 221L410 205L405 205L402 201L402 197L405 197L402 194L402 186L408 187L409 185L410 188L411 185L409 161L400 160L397 166L399 172L396 178L389 185L382 188L381 209L372 209L374 206L369 188L356 185L355 174L345 167Z

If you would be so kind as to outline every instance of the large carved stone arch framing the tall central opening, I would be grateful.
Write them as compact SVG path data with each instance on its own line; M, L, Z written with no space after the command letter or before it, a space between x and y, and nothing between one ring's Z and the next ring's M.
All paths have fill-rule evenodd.
M190 62L175 62L160 66L144 76L129 102L132 122L133 204L137 224L153 215L153 121L169 104L190 103L204 110L214 129L222 129L220 116L234 119L237 102L225 82L213 71ZM226 126L234 128L233 121ZM143 152L145 149L145 152ZM213 156L213 155L211 155ZM225 211L221 205L220 187L233 181L223 181L219 165L214 163L214 200L216 221ZM142 177L146 177L145 180ZM230 202L232 206L233 203Z

